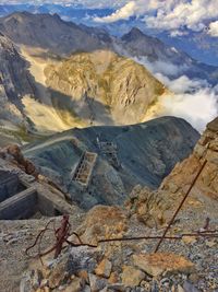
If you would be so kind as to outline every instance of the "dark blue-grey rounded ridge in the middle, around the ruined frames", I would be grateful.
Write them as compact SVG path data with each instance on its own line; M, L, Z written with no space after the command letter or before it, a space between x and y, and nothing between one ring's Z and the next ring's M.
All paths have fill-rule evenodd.
M29 144L23 152L39 172L69 191L73 201L89 209L97 203L122 203L137 184L157 188L174 164L192 152L198 138L183 119L162 117L134 126L73 129ZM120 166L102 154L97 139L117 145ZM98 154L85 190L71 182L84 151Z

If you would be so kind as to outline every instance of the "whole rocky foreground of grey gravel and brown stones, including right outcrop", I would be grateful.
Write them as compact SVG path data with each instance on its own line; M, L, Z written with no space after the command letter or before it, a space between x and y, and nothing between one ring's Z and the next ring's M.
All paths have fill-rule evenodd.
M49 220L4 221L0 233L3 262L0 290L218 291L217 148L215 119L193 154L174 167L158 190L137 186L123 208L96 206L86 214L80 209L73 213L71 232L76 231L82 244L76 236L70 236L69 241L80 246L65 245L57 259L48 254L43 257L44 266L24 252ZM158 238L135 237L162 235L205 160L198 180L167 234L177 238L166 238L154 253ZM61 218L56 223L60 226ZM50 229L41 241L41 250L52 247L55 242ZM37 253L35 246L31 255Z

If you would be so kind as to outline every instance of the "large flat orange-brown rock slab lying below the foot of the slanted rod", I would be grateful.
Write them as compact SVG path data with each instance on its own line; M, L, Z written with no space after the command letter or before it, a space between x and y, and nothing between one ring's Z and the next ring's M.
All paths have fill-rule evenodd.
M191 273L194 270L194 264L178 256L168 253L141 254L133 255L134 265L146 273L154 277L168 273Z

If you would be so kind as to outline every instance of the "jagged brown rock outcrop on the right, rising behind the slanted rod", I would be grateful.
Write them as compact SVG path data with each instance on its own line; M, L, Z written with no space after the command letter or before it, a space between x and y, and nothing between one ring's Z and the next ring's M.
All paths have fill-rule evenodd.
M157 226L168 222L172 217L172 211L175 211L177 207L179 207L206 160L207 163L193 186L186 205L186 208L192 206L193 209L198 209L197 212L202 209L204 213L205 203L208 203L210 199L215 200L214 203L217 203L218 199L217 150L218 118L207 125L193 153L175 165L157 191L150 191L142 186L136 186L133 189L130 199L126 201L126 208L130 213L149 226Z

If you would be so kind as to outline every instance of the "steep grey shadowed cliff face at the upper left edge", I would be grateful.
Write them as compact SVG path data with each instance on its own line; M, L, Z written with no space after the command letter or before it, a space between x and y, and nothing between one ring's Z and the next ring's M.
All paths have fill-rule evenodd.
M34 93L26 62L15 45L0 33L0 119L24 121L22 97Z

